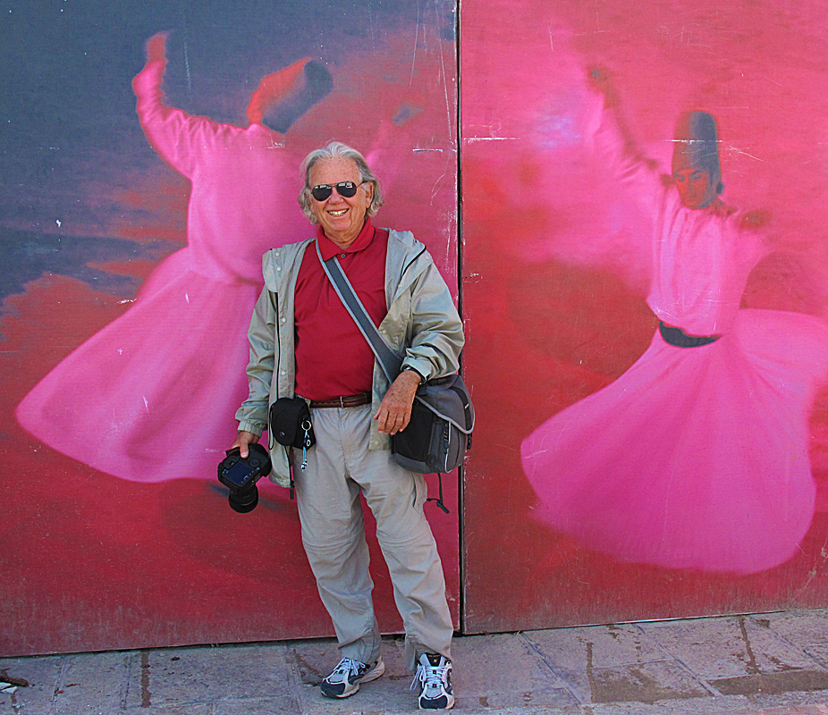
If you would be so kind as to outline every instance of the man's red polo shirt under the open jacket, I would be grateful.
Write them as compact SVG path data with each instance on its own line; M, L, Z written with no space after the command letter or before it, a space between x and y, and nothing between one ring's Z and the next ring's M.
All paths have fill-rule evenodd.
M339 257L359 300L379 326L388 312L385 305L388 231L375 229L368 220L348 248L339 248L325 237L320 226L317 240L325 260ZM296 394L308 400L330 400L370 392L374 353L325 275L315 243L308 244L302 257L293 303Z

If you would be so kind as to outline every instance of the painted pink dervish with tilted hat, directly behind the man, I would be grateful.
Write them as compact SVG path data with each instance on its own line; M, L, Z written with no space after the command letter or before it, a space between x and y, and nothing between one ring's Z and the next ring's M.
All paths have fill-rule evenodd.
M149 143L190 180L187 246L16 411L55 450L138 482L215 479L248 392L242 316L261 289L262 254L307 231L289 189L300 157L289 156L284 132L333 86L305 58L261 80L249 126L213 122L165 103L165 43L164 33L148 40L132 88Z

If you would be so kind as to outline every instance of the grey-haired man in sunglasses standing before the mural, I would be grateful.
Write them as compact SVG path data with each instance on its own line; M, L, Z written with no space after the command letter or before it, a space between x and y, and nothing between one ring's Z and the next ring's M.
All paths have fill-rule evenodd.
M265 290L250 323L249 399L239 409L236 444L246 456L281 397L308 400L317 443L302 455L271 448L276 484L291 484L302 543L332 620L342 660L322 694L344 698L380 677L380 635L371 601L359 493L376 517L376 535L405 626L405 654L421 693L419 707L454 704L452 619L443 566L423 514L422 475L399 467L390 435L409 424L421 381L457 370L462 324L425 246L408 231L377 229L379 182L365 158L342 143L311 152L302 164L300 206L316 239L266 253ZM317 255L337 256L379 331L403 357L389 385L368 342L342 305Z

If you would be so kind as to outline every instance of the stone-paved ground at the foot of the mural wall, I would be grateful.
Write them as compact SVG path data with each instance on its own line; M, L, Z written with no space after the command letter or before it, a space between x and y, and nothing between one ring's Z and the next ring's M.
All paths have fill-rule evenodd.
M828 715L828 610L467 635L456 711ZM416 711L402 642L385 675L326 700L332 640L0 659L0 715L365 715ZM2 687L2 686L0 686Z

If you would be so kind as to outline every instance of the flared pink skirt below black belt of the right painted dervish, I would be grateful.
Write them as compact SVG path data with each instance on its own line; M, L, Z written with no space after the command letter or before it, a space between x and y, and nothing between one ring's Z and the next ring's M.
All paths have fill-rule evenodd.
M828 328L740 310L719 341L659 335L618 380L522 443L537 519L621 561L749 574L790 559L814 515L808 417Z

